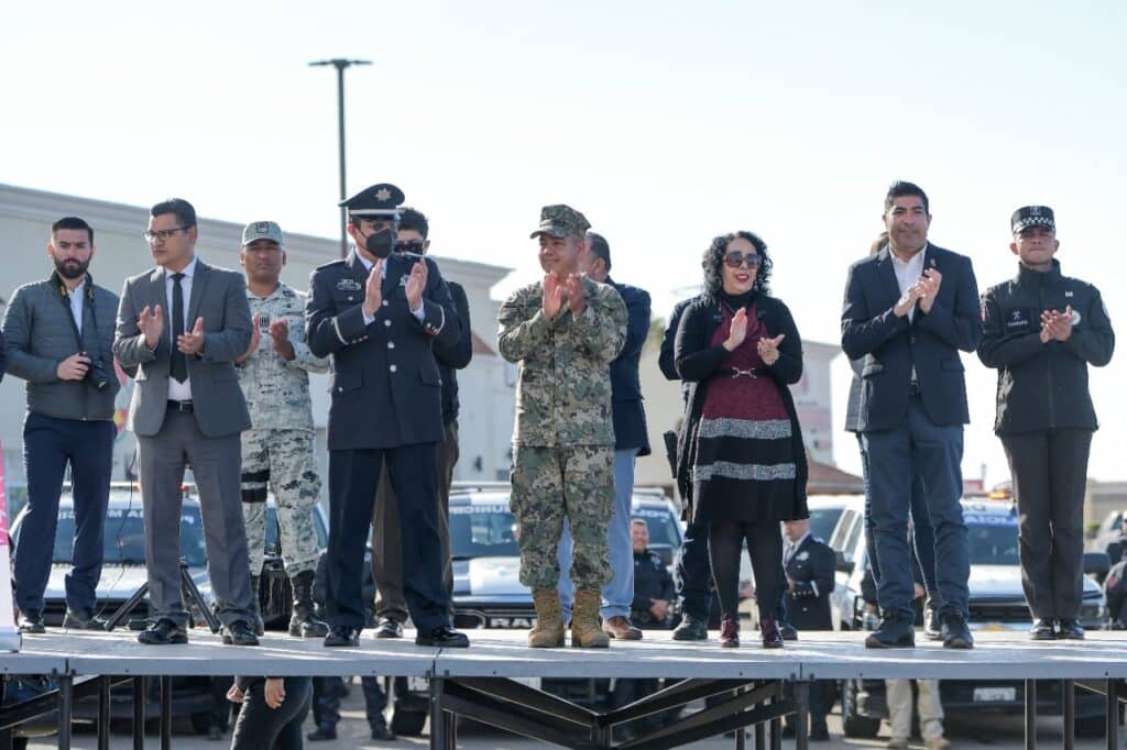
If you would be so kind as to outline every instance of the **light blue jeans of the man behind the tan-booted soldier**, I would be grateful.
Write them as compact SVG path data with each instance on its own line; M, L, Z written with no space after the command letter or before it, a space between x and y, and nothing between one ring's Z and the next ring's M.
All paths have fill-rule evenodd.
M630 543L630 499L633 495L633 465L638 448L614 452L614 512L606 527L606 550L611 561L611 580L603 586L603 619L629 617L633 601L633 545ZM571 619L571 529L564 524L558 547L560 563L560 602L564 622Z

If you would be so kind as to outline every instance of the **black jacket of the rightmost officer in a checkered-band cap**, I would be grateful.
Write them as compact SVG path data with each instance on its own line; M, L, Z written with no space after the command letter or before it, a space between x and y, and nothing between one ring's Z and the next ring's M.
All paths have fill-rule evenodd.
M1041 313L1073 310L1067 341L1041 343ZM1061 275L1061 264L1039 273L1021 266L1017 278L983 295L984 336L978 358L997 368L994 431L1099 427L1088 390L1088 366L1111 361L1116 334L1100 292Z

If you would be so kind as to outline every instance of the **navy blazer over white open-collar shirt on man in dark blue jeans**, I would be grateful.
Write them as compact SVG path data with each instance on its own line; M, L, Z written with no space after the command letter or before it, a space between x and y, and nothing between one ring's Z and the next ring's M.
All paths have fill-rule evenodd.
M924 268L943 275L930 313L916 307L913 321L893 307L900 289L886 245L853 264L845 282L842 349L850 359L864 357L857 429L888 430L907 412L912 367L929 419L935 425L966 425L967 389L959 350L974 351L982 339L978 285L970 259L928 244Z

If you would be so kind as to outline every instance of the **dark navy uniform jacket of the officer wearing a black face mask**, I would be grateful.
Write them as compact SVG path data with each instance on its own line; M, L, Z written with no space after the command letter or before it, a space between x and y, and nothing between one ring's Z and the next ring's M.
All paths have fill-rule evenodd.
M461 323L450 288L429 258L423 321L411 314L403 286L420 256L388 256L383 305L364 323L367 270L353 249L310 277L305 342L318 357L332 355L329 450L394 448L438 443L442 377L432 343L452 347Z

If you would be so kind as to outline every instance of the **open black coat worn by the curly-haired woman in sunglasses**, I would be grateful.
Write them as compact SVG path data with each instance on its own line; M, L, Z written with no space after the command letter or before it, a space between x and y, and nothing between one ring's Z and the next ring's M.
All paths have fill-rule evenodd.
M802 377L802 339L787 305L763 294L756 295L754 302L756 318L763 322L767 336L774 338L780 333L786 334L779 345L779 360L766 369L779 385L783 407L790 417L795 453L795 499L790 518L807 518L810 515L806 508L806 481L809 468L795 399L788 387ZM685 416L681 421L681 432L677 435L677 490L681 492L683 510L687 518L692 518L692 454L696 426L700 423L701 410L704 407L706 387L702 386L708 385L716 368L728 356L728 350L724 347L712 346L712 336L724 322L720 304L717 298L707 294L693 300L681 316L674 346L677 374L689 384Z

